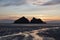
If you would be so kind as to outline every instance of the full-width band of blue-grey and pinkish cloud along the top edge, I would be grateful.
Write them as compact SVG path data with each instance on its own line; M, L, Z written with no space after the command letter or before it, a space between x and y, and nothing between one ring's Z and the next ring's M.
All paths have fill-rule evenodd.
M20 6L24 4L32 5L55 5L60 4L60 0L0 0L0 7Z

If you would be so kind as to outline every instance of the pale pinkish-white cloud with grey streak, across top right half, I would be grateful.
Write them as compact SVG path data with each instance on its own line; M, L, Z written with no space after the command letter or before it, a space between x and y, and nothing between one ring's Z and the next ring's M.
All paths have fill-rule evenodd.
M33 1L28 0L27 2L33 5L40 5L40 6L60 4L60 0L33 0Z

